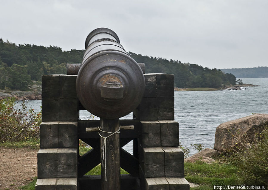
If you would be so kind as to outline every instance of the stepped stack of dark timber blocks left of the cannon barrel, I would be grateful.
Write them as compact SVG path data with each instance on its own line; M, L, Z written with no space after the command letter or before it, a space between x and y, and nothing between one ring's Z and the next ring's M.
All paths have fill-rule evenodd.
M79 117L76 75L42 76L42 123L36 190L77 190Z

